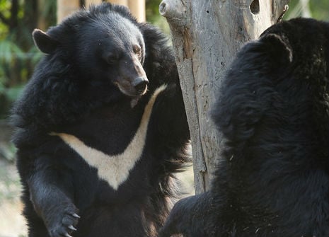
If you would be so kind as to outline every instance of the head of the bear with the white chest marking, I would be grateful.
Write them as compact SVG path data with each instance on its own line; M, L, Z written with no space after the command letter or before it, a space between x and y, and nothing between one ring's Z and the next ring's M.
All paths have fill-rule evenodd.
M79 81L86 95L104 91L139 98L146 93L143 35L123 6L91 6L47 33L34 30L33 39L50 61L69 68L71 80Z

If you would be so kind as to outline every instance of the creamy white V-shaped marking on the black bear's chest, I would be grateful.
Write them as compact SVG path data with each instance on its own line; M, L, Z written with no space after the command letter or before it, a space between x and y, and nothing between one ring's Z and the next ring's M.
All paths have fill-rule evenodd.
M147 127L149 125L149 119L151 116L152 108L156 97L161 91L166 89L166 85L162 85L154 91L154 94L151 96L149 102L144 108L144 114L142 116L141 123L137 129L136 134L129 145L121 154L114 156L109 156L108 154L103 153L93 149L90 146L86 146L80 139L74 137L71 134L65 133L50 133L53 136L60 137L66 144L68 144L71 149L74 149L90 166L97 168L98 177L107 181L108 184L117 190L117 188L127 180L129 176L129 171L134 168L137 161L142 156ZM110 146L110 144L109 144Z

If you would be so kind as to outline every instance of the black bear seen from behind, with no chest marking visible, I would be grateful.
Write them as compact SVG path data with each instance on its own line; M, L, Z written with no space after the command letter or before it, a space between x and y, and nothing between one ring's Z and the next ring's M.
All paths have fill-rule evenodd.
M329 236L329 23L296 18L248 42L212 118L226 146L210 190L159 236Z

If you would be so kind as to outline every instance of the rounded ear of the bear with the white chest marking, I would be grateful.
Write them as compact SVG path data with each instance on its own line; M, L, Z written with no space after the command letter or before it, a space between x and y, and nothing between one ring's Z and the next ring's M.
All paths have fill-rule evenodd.
M47 35L47 33L42 30L35 29L33 30L32 35L35 46L37 46L41 52L51 54L54 50L56 50L58 42L52 39L50 35Z

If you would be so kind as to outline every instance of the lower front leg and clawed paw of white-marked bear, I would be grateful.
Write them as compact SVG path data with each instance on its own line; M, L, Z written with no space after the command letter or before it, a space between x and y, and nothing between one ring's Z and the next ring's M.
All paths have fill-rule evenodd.
M69 237L76 231L80 216L67 190L67 179L59 177L50 168L41 169L33 173L28 180L30 200L35 212L42 218L51 237Z

